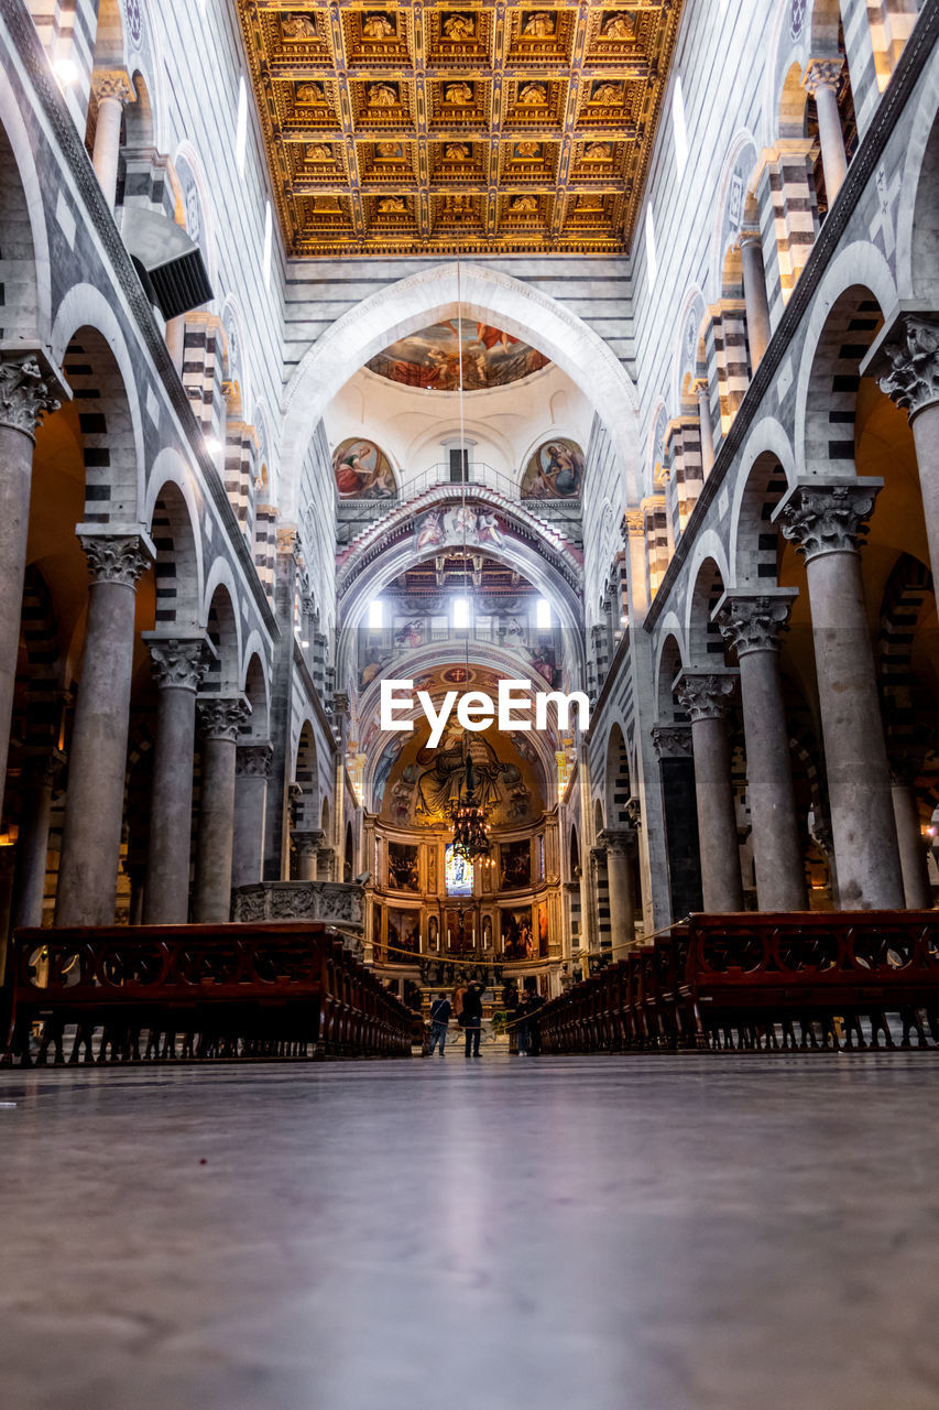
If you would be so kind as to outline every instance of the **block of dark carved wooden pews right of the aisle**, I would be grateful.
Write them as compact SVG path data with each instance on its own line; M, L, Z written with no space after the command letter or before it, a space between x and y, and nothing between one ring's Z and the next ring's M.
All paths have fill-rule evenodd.
M939 911L692 915L539 1022L553 1053L939 1046Z

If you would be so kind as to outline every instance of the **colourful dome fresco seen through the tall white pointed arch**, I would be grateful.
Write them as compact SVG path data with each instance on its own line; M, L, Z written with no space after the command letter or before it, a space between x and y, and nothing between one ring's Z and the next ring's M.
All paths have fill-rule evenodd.
M550 358L510 333L472 319L447 319L430 329L412 333L379 352L368 364L369 371L405 386L420 386L434 392L455 392L460 388L462 352L462 385L468 392L485 386L506 386L532 372L540 372Z

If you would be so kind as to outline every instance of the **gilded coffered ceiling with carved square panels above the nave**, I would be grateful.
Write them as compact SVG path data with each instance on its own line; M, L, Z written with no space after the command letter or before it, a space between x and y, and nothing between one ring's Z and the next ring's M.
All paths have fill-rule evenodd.
M681 0L237 0L293 255L629 248Z

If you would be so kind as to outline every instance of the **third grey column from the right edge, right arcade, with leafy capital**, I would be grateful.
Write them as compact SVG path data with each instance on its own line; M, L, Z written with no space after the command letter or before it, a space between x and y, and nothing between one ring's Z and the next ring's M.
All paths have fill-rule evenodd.
M718 608L720 633L737 656L747 798L761 911L805 911L805 866L795 812L790 732L782 704L780 636L795 592L729 594Z

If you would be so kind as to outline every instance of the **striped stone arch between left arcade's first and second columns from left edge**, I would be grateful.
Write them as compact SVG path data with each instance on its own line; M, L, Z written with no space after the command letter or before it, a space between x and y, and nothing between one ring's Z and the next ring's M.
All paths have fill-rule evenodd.
M75 395L85 455L85 522L127 529L141 522L145 453L137 371L104 295L73 285L52 329L52 351Z

